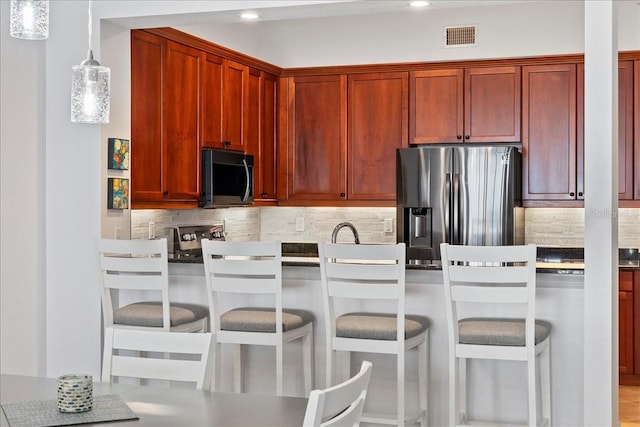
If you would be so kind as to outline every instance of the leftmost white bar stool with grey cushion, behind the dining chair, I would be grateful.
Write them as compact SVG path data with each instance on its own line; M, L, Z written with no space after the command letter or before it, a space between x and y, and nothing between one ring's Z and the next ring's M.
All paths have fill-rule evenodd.
M102 314L105 327L206 332L209 308L169 302L167 239L100 239ZM124 306L114 303L123 291L156 291L157 301ZM116 295L117 292L117 295Z

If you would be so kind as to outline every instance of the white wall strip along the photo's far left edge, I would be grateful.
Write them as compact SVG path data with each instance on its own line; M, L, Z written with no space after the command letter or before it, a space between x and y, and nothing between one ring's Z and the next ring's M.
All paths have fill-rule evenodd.
M45 42L11 37L8 16L2 1L0 372L44 374Z

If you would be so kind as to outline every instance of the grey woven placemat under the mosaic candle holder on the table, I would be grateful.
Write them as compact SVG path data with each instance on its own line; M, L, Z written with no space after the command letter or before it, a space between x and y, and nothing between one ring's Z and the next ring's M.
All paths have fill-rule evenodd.
M0 406L11 427L70 426L139 418L117 394L93 396L92 410L72 414L58 411L57 399L4 403Z

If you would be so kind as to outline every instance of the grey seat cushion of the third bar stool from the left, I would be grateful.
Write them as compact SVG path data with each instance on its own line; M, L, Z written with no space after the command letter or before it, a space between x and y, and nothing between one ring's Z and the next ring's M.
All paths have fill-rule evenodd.
M429 318L405 315L405 339L420 335L429 328ZM368 340L395 340L396 315L391 313L346 313L336 318L336 336Z

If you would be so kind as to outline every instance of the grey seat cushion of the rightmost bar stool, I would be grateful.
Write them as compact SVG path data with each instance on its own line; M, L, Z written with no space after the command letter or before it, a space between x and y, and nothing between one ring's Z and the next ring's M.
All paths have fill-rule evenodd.
M468 318L458 322L460 344L524 346L524 319ZM541 343L551 333L551 324L536 320L535 340Z

